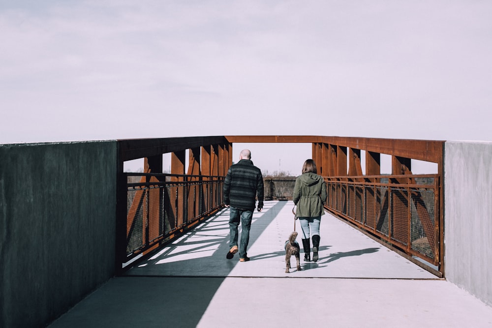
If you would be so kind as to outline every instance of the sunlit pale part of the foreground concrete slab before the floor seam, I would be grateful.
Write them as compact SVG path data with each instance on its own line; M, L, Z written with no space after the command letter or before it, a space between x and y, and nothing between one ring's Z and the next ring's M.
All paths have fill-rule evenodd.
M492 309L439 280L227 278L197 327L492 327Z

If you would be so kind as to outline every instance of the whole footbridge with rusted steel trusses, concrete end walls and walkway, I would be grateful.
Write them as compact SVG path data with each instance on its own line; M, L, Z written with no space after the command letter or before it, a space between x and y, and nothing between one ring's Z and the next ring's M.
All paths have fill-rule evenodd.
M252 261L225 260L221 183L242 142L312 144L329 191L318 263L283 272L294 221L282 190L292 180L265 181L271 200L255 214ZM2 327L487 327L491 149L319 136L1 145ZM391 175L381 175L381 155ZM144 173L123 173L136 158ZM413 160L437 173L412 174Z

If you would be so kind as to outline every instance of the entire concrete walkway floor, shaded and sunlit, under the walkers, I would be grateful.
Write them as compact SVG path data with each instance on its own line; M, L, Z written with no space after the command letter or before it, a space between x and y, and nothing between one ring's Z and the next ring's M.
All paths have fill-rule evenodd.
M285 273L292 208L255 212L249 262L225 258L224 209L50 327L492 327L491 307L330 214L318 262Z

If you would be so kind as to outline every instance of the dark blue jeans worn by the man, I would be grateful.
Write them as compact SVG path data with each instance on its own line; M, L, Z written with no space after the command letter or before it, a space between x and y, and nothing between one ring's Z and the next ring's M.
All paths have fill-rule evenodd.
M236 209L232 206L229 216L229 248L238 245L238 227L241 222L241 243L239 244L239 257L244 259L246 256L247 244L249 242L249 230L251 229L251 220L253 218L253 210Z

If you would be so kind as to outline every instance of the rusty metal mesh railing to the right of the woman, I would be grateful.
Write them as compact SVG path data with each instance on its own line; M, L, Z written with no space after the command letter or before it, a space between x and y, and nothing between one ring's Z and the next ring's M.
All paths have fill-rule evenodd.
M325 181L328 210L409 256L439 265L439 175L330 177Z

